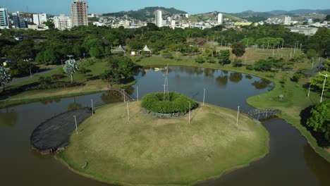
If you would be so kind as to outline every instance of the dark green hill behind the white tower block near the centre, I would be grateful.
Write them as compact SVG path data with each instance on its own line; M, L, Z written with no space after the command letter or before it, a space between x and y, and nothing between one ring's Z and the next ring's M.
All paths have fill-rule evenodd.
M149 18L154 18L154 12L161 9L163 16L172 16L173 14L185 14L185 11L180 11L176 8L165 8L160 6L152 6L140 9L138 11L120 11L116 13L104 13L103 16L116 16L121 17L124 15L130 16L130 18L135 18L137 20L147 20Z

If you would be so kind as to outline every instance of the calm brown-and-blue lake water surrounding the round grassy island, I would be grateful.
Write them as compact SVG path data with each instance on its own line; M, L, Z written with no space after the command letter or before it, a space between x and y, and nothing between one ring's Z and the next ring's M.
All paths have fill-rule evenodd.
M208 68L170 67L169 91L197 101L231 109L250 110L245 100L269 91L273 85L259 77ZM164 91L164 72L146 69L138 83L126 89L136 99L149 92ZM68 170L52 156L32 151L30 135L44 120L75 106L109 104L118 98L106 93L54 99L0 109L0 185L107 185ZM270 153L251 166L198 185L329 185L330 163L316 154L302 135L281 119L264 123L270 133Z

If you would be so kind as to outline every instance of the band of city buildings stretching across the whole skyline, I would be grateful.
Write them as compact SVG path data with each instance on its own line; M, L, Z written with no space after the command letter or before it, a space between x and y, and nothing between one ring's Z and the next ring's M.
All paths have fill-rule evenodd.
M173 16L164 16L162 10L157 10L154 13L154 19L141 21L130 18L125 15L122 17L99 17L96 14L88 15L87 14L87 1L73 0L71 3L71 16L66 16L60 14L59 16L54 16L53 18L48 18L46 13L20 13L15 12L11 13L11 16L8 16L6 8L0 8L0 29L4 28L30 28L35 30L47 29L47 26L44 25L47 21L52 21L54 27L59 30L71 29L74 26L88 25L88 18L97 18L97 21L92 22L93 25L97 26L111 26L111 27L125 27L125 28L136 28L147 25L149 22L154 22L158 27L168 26L171 28L176 27L200 27L211 28L216 25L226 25L226 27L240 27L244 25L264 25L268 24L282 24L287 25L288 29L292 32L299 32L305 35L314 35L317 31L317 28L314 27L329 27L328 23L313 23L312 19L308 19L308 25L290 27L295 25L298 21L293 21L290 16L285 16L285 18L268 18L265 21L260 21L259 23L250 23L247 20L241 22L235 22L224 18L223 13L214 12L213 17L210 17L206 21L193 21L189 19L189 14L175 14ZM198 16L198 15L197 15Z

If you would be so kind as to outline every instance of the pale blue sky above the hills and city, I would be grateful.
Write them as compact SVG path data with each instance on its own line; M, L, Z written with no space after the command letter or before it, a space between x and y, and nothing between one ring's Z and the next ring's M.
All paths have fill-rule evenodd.
M73 0L0 0L0 7L8 12L29 11L33 13L71 14ZM327 9L329 0L87 0L88 13L110 13L130 11L146 6L178 8L191 14L220 11L236 13L241 11L274 11L295 9Z

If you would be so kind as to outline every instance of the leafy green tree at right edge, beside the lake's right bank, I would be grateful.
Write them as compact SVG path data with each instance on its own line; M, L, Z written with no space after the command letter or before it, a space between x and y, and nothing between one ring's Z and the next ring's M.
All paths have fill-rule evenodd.
M307 125L315 132L322 132L325 139L330 142L330 99L317 104L310 111L312 116L308 118Z

